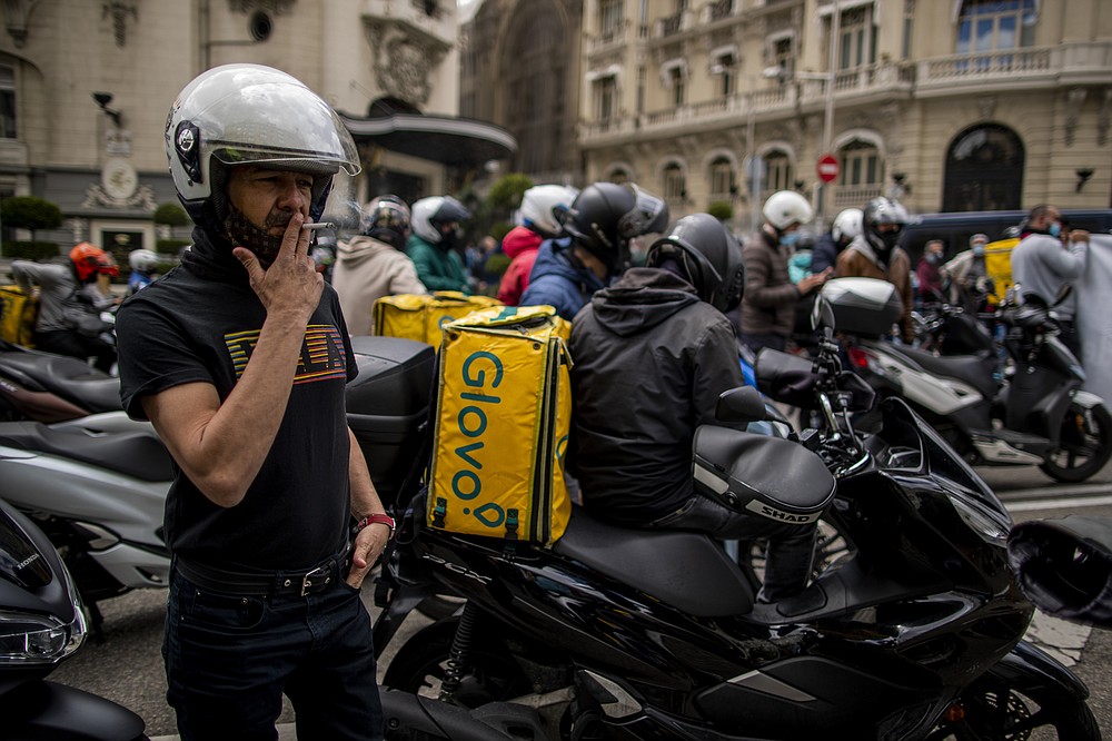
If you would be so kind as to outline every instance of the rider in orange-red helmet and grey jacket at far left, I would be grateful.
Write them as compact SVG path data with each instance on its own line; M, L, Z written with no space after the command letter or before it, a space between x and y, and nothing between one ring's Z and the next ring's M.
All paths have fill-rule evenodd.
M88 360L105 373L116 363L116 348L100 335L111 328L100 313L118 299L111 279L120 274L112 256L82 241L69 253L69 263L13 260L11 274L27 294L39 290L34 345L47 353Z

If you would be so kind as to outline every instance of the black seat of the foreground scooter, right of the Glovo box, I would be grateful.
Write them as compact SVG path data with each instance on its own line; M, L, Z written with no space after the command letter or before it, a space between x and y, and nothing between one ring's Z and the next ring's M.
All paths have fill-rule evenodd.
M698 618L753 609L753 587L708 535L610 525L582 506L553 551Z

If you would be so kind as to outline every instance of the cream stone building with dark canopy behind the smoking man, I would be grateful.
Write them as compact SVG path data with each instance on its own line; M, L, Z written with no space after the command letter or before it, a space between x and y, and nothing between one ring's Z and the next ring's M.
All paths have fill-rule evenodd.
M478 139L450 130L459 101L454 0L7 0L2 22L0 198L58 204L64 228L36 237L63 250L82 239L118 251L155 246L155 208L177 202L167 111L192 77L218 65L279 68L344 115L364 159L349 184L356 206L379 190L409 199L448 191L458 168L474 164L446 165L430 156L437 147L398 141L447 138L453 146L439 149L458 156L467 149L459 141L493 137L492 151L513 151L494 127L470 127ZM428 135L413 132L418 119ZM3 238L29 236L14 231Z

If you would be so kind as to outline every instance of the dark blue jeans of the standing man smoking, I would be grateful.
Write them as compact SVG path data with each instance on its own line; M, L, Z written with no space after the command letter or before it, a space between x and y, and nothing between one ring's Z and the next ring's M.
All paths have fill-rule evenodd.
M274 741L282 693L298 741L383 738L370 615L347 583L241 596L200 590L175 570L162 658L183 741Z

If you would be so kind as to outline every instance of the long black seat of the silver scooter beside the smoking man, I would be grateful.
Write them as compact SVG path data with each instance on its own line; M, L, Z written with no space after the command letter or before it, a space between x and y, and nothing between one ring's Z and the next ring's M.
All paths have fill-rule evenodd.
M170 481L170 454L148 429L90 435L75 427L54 429L39 422L0 424L0 445L80 461L142 481Z

